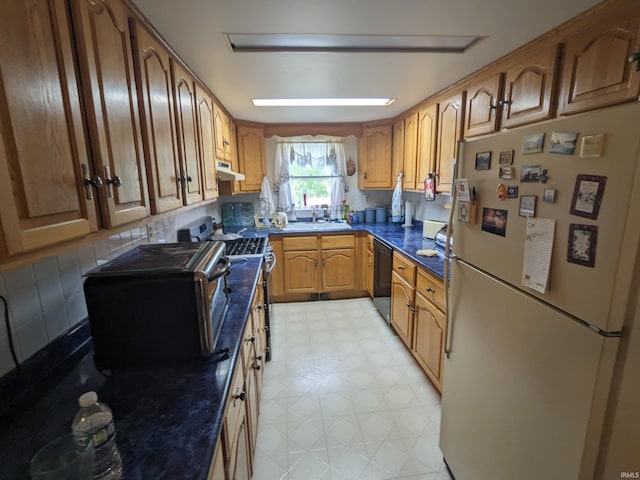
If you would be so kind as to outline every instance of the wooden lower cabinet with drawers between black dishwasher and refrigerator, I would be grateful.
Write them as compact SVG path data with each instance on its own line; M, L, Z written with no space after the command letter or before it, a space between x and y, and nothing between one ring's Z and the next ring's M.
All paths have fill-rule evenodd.
M441 392L447 325L443 281L398 252L391 275L391 325Z

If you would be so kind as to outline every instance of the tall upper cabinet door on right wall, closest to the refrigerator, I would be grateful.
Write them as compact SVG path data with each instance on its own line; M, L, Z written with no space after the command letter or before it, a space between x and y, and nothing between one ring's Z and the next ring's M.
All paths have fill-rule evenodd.
M438 115L438 152L436 157L436 191L450 192L453 161L458 156L462 138L464 94L459 93L440 102Z

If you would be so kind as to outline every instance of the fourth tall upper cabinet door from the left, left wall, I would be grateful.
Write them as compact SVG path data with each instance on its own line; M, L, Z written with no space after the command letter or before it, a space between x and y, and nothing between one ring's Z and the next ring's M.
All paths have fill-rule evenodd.
M197 203L204 198L202 173L196 134L196 92L193 77L181 64L171 59L173 95L176 106L176 129L180 157L180 183L185 205Z

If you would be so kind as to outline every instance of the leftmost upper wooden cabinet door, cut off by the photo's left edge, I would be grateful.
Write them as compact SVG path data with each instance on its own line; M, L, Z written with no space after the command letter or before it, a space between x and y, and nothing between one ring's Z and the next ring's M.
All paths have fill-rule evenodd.
M64 0L0 5L0 256L98 228Z

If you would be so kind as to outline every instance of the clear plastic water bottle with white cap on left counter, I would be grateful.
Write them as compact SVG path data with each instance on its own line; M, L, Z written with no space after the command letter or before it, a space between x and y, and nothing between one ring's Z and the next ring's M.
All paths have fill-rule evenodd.
M87 434L93 439L95 459L93 478L117 480L122 476L122 459L116 445L116 429L113 413L104 403L98 402L96 392L87 392L78 398L80 410L71 424L74 434Z

